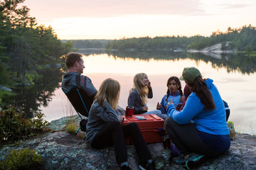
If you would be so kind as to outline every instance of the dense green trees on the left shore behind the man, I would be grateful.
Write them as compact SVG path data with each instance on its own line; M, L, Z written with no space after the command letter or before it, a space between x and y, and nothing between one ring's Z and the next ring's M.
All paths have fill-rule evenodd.
M73 49L70 41L61 42L53 28L38 26L24 0L0 2L0 85L24 84L38 77L48 64L60 63L60 57Z

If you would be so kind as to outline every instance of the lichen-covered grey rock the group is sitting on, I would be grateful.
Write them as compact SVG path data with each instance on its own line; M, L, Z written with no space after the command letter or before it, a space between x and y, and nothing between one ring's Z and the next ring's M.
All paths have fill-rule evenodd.
M70 135L63 127L65 118L51 122L54 132L20 142L19 145L4 145L0 160L11 149L36 149L44 160L45 169L119 169L115 162L114 148L93 149L84 140L85 132ZM162 143L148 145L156 162L156 169L183 169L169 161L170 150ZM138 169L138 158L132 145L127 145L128 162ZM196 169L256 169L256 136L236 134L228 152L216 159L208 159Z

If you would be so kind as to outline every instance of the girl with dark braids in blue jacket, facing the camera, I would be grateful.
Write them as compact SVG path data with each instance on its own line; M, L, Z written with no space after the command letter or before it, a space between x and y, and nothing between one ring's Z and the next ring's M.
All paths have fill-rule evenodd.
M176 107L179 103L184 100L183 91L181 89L181 81L178 77L170 77L167 80L167 92L161 100L161 103L157 103L156 109L161 111L160 117L163 119L167 118L166 105L171 101Z

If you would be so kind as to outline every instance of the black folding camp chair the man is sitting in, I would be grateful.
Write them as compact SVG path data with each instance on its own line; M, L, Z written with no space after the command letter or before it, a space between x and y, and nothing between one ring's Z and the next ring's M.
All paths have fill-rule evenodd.
M72 106L75 108L75 111L81 118L80 127L78 128L78 131L81 129L82 131L85 132L86 128L81 128L81 123L87 123L87 120L82 119L81 115L88 117L94 96L88 96L85 93L85 91L79 89L78 86L73 86L73 88L70 89L70 91L68 91L65 95L68 97L68 100L70 101ZM75 132L75 135L78 133L78 131Z

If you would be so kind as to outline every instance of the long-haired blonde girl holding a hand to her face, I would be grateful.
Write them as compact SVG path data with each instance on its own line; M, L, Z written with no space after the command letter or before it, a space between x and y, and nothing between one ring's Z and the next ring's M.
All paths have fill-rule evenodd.
M134 107L134 114L155 114L161 115L161 111L149 111L146 102L153 98L151 82L145 73L138 73L134 76L134 86L129 91L128 106Z

